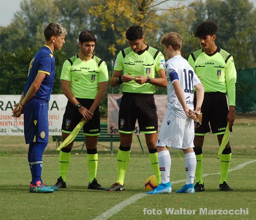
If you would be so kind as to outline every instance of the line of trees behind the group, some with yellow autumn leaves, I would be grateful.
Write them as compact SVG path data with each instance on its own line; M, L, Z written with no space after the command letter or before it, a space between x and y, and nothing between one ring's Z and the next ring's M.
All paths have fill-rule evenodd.
M59 22L68 29L63 50L55 54L53 93L61 93L62 64L77 52L77 37L83 29L94 32L98 40L95 55L104 59L111 71L117 51L126 44L129 26L143 26L146 42L161 51L162 34L180 33L182 55L188 58L200 48L193 37L196 26L207 19L218 24L216 42L233 55L237 69L256 67L256 10L249 0L23 0L13 22L0 27L0 71L5 76L0 79L0 94L23 91L13 81L26 80L28 64L42 46L41 33L49 22ZM107 92L111 93L110 87ZM158 94L165 92L159 90Z

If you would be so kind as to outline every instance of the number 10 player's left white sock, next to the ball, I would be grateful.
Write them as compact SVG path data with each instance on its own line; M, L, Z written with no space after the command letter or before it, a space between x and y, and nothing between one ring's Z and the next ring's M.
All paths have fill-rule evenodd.
M169 150L158 153L159 169L161 172L161 183L170 182L171 156Z

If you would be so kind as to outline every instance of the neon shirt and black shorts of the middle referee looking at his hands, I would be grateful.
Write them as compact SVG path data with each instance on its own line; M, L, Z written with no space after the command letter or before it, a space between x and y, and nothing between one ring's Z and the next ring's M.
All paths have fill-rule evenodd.
M147 46L138 53L132 48L125 48L117 55L114 70L123 71L131 77L156 77L156 72L164 70L165 59L162 53L155 48ZM132 80L121 84L123 96L119 110L119 132L135 132L135 123L138 119L141 133L156 133L158 130L158 117L154 104L155 86L150 83L138 84Z

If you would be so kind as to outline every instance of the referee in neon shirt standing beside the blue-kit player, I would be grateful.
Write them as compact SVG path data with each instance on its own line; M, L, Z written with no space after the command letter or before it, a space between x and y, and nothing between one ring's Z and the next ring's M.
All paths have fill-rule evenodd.
M61 71L61 85L68 103L63 116L61 131L64 141L75 126L83 120L87 166L89 171L88 189L105 190L96 180L98 167L97 142L100 135L99 103L102 101L109 79L106 63L93 55L96 37L89 30L79 35L79 54L66 60ZM60 177L55 187L66 188L70 154L74 141L60 151Z

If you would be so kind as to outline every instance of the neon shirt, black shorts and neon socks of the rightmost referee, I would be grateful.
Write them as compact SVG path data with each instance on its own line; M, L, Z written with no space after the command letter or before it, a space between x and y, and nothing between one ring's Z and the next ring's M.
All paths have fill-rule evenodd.
M201 112L202 125L196 131L196 136L205 136L211 131L215 135L225 133L228 106L235 106L237 72L233 57L222 50L206 54L203 49L193 52L188 58L189 64L195 70L205 89ZM226 100L228 97L228 104ZM196 96L194 106L196 105ZM211 129L210 129L210 126ZM203 153L201 148L195 148L196 153L196 180L203 184ZM231 162L231 147L223 150L220 157L220 184L226 181Z

